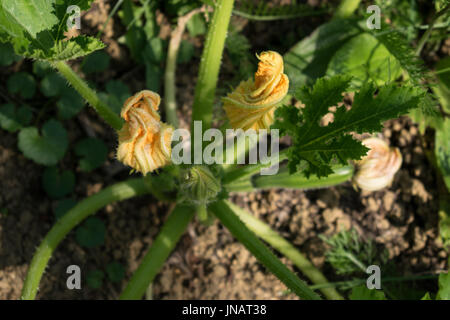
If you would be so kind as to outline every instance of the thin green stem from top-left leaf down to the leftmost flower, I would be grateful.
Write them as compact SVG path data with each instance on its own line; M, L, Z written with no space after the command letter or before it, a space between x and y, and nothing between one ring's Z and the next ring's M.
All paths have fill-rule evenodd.
M81 79L72 68L64 61L53 62L52 66L56 68L67 81L78 91L78 93L97 111L106 123L116 130L120 130L123 121L120 117L112 111L106 104L104 104L97 93L92 90L83 79Z

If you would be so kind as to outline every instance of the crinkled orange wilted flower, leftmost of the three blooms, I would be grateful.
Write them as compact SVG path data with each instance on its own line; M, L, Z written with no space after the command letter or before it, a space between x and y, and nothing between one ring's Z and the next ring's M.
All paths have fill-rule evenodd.
M173 127L161 122L160 101L157 93L143 90L128 98L120 113L126 122L119 131L117 159L144 175L171 158Z

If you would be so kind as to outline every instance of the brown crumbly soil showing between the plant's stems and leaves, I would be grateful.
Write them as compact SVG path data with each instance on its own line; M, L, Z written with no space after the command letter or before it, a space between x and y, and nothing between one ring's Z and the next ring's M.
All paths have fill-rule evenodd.
M102 24L110 2L96 1L97 7L86 14L89 28ZM97 14L97 13L98 14ZM317 24L311 18L308 29ZM102 83L117 77L140 90L144 86L142 70L136 69L125 47L119 45L120 23L112 20L103 39L114 59L111 70L94 81ZM276 22L272 28L289 30L292 22ZM250 23L245 27L251 37L253 50L281 47L278 37L267 31L267 24ZM164 28L163 28L164 29ZM311 31L310 30L310 31ZM163 32L163 31L162 31ZM298 33L305 30L295 31ZM166 32L167 33L167 32ZM306 32L308 33L308 32ZM120 33L119 33L120 34ZM255 39L254 39L255 38ZM200 44L200 39L194 39ZM177 100L181 125L187 127L193 99L197 62L201 48L196 49L192 63L179 66ZM283 49L285 50L285 49ZM280 51L283 51L280 50ZM229 70L224 59L224 70ZM74 65L78 67L79 63ZM17 68L30 68L29 62L0 70L2 87L6 77ZM6 90L3 90L6 92ZM38 97L44 101L43 97ZM73 144L77 139L95 135L104 139L111 152L108 161L93 173L78 169L73 151L69 151L61 168L77 170L75 195L77 199L91 195L104 186L124 180L128 169L114 160L115 134L87 108L71 121L65 122ZM438 198L434 172L419 138L417 127L404 117L386 123L382 136L398 146L404 162L389 188L364 193L350 183L325 190L271 190L250 194L233 194L232 200L247 208L272 228L292 241L298 249L331 280L339 280L325 263L326 245L319 235L333 235L339 230L356 228L363 238L371 238L387 249L389 259L400 274L419 274L447 268L448 254L438 238ZM27 160L17 149L17 135L0 134L0 299L18 299L28 265L40 240L54 223L52 208L42 186L42 167ZM147 248L152 244L164 222L169 204L151 196L108 205L97 215L107 226L105 244L85 249L75 241L74 233L61 243L43 276L39 299L116 299L136 270ZM282 259L288 266L287 260ZM113 284L104 281L101 289L90 289L83 282L82 290L66 288L66 268L79 265L83 275L89 270L103 269L112 261L126 268L125 279ZM296 270L298 271L298 270ZM154 299L286 299L286 287L268 273L256 259L217 221L210 227L192 223L188 232L166 262L153 284Z

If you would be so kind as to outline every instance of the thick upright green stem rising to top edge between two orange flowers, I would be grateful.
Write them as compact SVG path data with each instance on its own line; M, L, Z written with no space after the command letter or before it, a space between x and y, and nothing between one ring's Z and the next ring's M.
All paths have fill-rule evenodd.
M195 87L194 104L192 109L192 141L194 121L202 121L203 130L208 129L212 122L212 108L219 77L223 48L233 10L234 0L218 0L214 15L206 36L203 49L197 85Z

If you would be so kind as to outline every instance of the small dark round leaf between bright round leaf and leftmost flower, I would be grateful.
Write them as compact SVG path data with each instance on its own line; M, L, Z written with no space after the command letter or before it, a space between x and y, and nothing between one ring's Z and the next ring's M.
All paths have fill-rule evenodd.
M100 139L85 138L75 145L75 154L81 157L79 165L83 171L100 167L108 155L108 148Z

